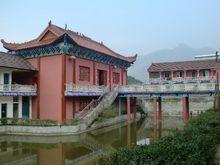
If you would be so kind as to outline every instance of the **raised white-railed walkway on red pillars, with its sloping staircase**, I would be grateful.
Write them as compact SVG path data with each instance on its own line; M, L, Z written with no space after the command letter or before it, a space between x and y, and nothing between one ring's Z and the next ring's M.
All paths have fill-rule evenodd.
M181 96L183 102L183 117L184 119L188 120L189 96L214 96L216 91L215 88L215 81L167 81L166 83L161 84L120 85L116 86L111 92L103 93L103 95L101 95L97 101L93 100L84 110L82 110L82 115L79 115L79 118L84 121L87 127L89 127L98 117L98 115L100 115L105 109L107 109L117 97L126 97L128 120L130 120L130 97L135 97L137 99L142 96L151 97L154 99L155 116L157 116L158 113L159 117L161 117L162 97ZM135 104L137 104L137 101L135 101Z

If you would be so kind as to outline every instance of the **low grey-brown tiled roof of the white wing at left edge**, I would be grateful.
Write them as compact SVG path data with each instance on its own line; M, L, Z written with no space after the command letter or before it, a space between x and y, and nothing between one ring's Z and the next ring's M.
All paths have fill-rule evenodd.
M24 58L4 52L0 52L0 67L36 71L36 68Z

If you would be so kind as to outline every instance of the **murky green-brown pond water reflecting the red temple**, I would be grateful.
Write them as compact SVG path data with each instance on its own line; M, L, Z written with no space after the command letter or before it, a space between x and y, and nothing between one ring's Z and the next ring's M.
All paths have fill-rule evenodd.
M126 145L149 144L183 127L181 118L150 118L77 136L0 136L0 164L98 164L99 156Z

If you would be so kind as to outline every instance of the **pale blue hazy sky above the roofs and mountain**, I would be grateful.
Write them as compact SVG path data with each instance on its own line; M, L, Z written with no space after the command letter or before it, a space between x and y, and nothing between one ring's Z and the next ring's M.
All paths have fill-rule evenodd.
M220 48L220 0L7 0L0 6L0 38L9 42L34 39L52 20L123 55L179 43Z

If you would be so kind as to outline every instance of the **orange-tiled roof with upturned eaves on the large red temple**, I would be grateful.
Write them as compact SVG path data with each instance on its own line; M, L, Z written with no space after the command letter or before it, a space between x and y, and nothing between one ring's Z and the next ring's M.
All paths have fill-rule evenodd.
M60 36L62 36L63 34L68 34L79 46L91 49L91 50L95 50L97 52L100 53L104 53L106 55L110 55L128 62L134 62L137 58L137 55L135 56L131 56L131 57L125 57L122 56L116 52L114 52L113 50L111 50L110 48L108 48L107 46L105 46L103 43L99 43L96 42L84 35L79 35L77 32L71 31L71 30L65 30L63 28L60 28L56 25L53 24L49 24L47 26L47 28L41 33L41 35L34 40L31 40L29 42L24 42L24 43L7 43L4 40L1 40L1 42L3 43L3 46L8 49L8 50L21 50L21 49L26 49L26 48L33 48L33 47L38 47L38 46L42 46L42 45L47 45L47 44L51 44L53 43L57 38L53 39L53 40L46 40L46 41L40 41L40 39L46 34L47 31L51 31L52 33L54 33L57 38L59 38ZM40 42L39 42L40 41Z

